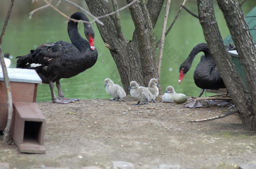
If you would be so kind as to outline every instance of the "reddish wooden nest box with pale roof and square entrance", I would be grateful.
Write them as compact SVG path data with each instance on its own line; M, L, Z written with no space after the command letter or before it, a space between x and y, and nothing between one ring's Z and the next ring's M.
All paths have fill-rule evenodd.
M7 68L13 100L11 136L24 153L44 154L45 117L37 106L37 84L42 80L35 70ZM0 131L7 124L8 106L3 72L0 70Z

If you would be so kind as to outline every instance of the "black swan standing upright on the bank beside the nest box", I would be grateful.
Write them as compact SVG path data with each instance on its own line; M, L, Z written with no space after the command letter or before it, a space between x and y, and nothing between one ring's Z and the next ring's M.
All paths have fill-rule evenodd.
M76 12L70 18L89 21L84 13ZM68 35L72 43L58 41L40 45L24 56L18 56L17 68L35 69L43 83L49 83L53 103L71 103L79 99L69 99L63 96L60 88L61 78L71 78L94 66L97 61L97 50L94 47L94 30L84 23L84 34L89 40L81 37L78 23L68 21ZM53 90L56 82L57 98Z

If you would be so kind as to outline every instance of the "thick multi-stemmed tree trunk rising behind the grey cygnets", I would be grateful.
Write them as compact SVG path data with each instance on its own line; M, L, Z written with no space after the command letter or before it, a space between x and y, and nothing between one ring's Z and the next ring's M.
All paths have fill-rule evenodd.
M154 1L154 4L152 3ZM113 16L100 20L104 25L97 23L100 35L110 45L110 53L118 67L121 81L128 92L131 81L147 86L150 78L157 77L156 48L153 27L157 21L164 0L152 0L147 4L144 0L129 7L135 24L132 40L126 40L120 33L120 25ZM110 13L110 6L105 0L85 0L91 13L95 16ZM131 3L132 0L127 0Z

